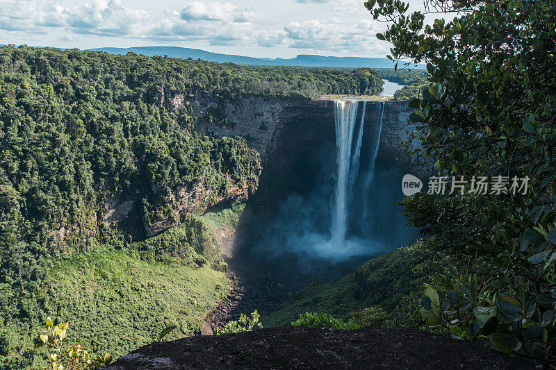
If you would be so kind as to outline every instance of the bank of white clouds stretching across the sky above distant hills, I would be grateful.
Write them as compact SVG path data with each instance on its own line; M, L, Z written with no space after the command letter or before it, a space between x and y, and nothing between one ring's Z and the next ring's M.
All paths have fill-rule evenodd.
M253 8L231 2L191 1L183 8L154 15L123 6L121 0L92 0L79 7L59 1L0 0L0 30L29 35L57 32L58 40L65 44L75 40L76 35L96 35L154 42L199 41L211 45L386 53L387 44L375 37L384 24L370 17L346 21L345 12L356 6L362 6L361 0L335 0L334 9L343 12L334 10L327 19L315 17L283 25L275 19L265 19L263 13ZM295 19L295 14L289 19Z

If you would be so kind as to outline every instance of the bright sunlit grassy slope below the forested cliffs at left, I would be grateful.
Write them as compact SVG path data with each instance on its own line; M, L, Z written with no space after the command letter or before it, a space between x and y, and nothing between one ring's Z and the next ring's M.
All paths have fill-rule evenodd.
M37 298L44 315L70 321L70 339L117 358L153 342L168 325L179 326L170 339L199 330L228 292L225 274L208 265L150 263L124 251L106 251L54 264ZM40 332L33 321L31 327L15 329L24 351L31 350L31 337Z

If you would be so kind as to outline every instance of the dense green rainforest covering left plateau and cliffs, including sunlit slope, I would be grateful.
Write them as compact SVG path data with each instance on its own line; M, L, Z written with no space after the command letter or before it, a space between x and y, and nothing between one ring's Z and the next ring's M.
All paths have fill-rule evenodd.
M188 103L166 106L164 92L310 99L381 89L370 69L0 48L0 368L38 364L30 338L48 315L122 354L152 340L147 317L191 333L227 294L207 226L216 221L195 210L249 196L259 153L241 137L195 133ZM176 227L147 238L161 217Z

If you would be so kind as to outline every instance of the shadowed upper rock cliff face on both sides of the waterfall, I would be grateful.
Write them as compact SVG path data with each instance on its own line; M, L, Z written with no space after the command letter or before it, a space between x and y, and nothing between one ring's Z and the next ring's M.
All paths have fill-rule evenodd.
M181 94L165 97L165 103L183 105ZM364 135L370 140L379 120L382 102L366 105ZM281 155L296 155L311 148L311 142L334 142L334 108L329 100L271 99L248 96L237 101L218 101L210 95L197 95L189 104L199 117L195 129L218 136L243 136L261 153L264 163L284 162ZM361 110L361 107L359 108ZM409 160L401 143L407 140L411 110L406 102L384 102L384 117L379 155L383 159ZM285 153L285 149L287 153ZM280 153L281 152L281 153ZM281 155L280 155L281 154Z

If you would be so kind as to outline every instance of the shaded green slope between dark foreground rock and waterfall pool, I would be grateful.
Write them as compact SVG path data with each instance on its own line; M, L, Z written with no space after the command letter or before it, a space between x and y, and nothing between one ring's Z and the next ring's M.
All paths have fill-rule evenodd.
M263 315L261 321L265 326L286 325L304 312L327 312L336 318L349 319L351 312L375 305L394 316L404 309L407 296L418 290L420 276L412 271L418 259L413 247L400 248L358 267L359 274L366 276L374 287L373 294L365 299L357 299L357 280L352 273L332 281L311 283L274 312Z

